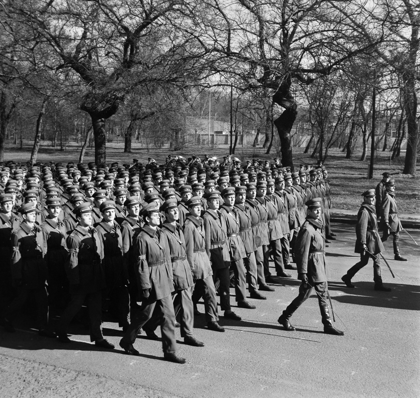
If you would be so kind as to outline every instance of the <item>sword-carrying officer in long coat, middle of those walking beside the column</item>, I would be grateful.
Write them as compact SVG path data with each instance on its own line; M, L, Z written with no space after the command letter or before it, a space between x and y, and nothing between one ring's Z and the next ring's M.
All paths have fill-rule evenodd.
M382 283L381 259L379 253L383 251L383 244L378 234L378 223L375 211L375 190L368 189L363 192L363 203L357 213L356 224L356 245L355 253L360 253L360 261L351 267L341 280L348 288L354 288L352 278L361 270L369 258L373 259L373 281L375 290L390 292L391 288L386 288Z

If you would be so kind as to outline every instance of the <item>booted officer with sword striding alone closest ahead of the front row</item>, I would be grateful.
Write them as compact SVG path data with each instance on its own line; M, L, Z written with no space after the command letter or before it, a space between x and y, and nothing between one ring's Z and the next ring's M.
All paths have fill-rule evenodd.
M326 301L328 299L327 262L324 237L321 233L323 227L320 221L321 201L321 198L313 198L305 203L308 207L308 215L299 230L295 246L298 278L302 280L302 284L299 286L299 295L283 311L278 318L278 323L283 325L285 330L296 330L290 325L289 320L315 289L318 295L324 333L342 336L344 332L333 327L331 323Z

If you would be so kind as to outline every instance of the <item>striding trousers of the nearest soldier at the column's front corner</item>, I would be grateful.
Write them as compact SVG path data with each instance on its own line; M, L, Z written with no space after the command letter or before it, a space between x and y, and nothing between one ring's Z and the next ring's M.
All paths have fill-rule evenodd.
M134 316L131 317L131 323L123 340L133 344L136 341L137 334L143 325L152 317L153 310L158 308L160 317L160 331L162 333L162 350L164 353L176 351L175 339L175 312L173 310L172 296L169 294L159 300L144 300L139 309L134 310Z

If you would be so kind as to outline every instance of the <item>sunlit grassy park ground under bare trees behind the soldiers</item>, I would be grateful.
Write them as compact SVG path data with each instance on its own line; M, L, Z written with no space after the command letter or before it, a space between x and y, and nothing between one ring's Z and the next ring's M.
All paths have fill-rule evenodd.
M32 150L32 144L27 143L24 145L23 150L9 146L5 152L5 160L15 160L20 162L26 162L30 158ZM185 157L190 154L194 154L199 157L203 157L205 154L209 156L217 156L220 160L223 160L223 155L228 153L229 148L227 146L219 148L205 148L205 147L189 147L184 152L169 151L167 148L157 149L142 148L138 144L134 144L132 153L123 153L123 144L108 143L107 144L107 162L118 161L121 163L132 162L133 158L139 159L141 162L147 163L148 157L153 157L157 163L163 163L165 157L168 154L181 154ZM294 148L294 162L296 165L299 163L314 164L315 159L310 158L310 154L303 153L304 148ZM55 150L50 147L41 147L39 149L38 161L47 162L50 160L68 162L68 161L79 161L80 147L67 147L66 151ZM417 165L416 177L403 175L402 170L404 168L404 155L402 152L400 158L396 158L395 161L389 161L389 152L378 152L378 156L375 158L375 168L373 173L373 179L367 179L367 170L369 166L369 157L364 162L360 162L360 150L355 150L354 157L352 159L345 159L344 153L339 149L331 149L330 155L325 161L325 166L329 171L329 178L332 186L332 201L333 207L336 209L354 209L357 210L360 203L360 194L369 188L375 188L378 182L382 178L384 171L389 171L393 174L393 178L396 181L396 197L399 205L399 210L403 213L420 213L420 164ZM94 160L94 151L87 149L84 162ZM236 154L234 155L241 160L251 159L258 157L260 159L269 159L277 156L276 151L272 151L272 154L266 155L265 150L262 148L252 147L238 147ZM391 165L390 165L391 163Z

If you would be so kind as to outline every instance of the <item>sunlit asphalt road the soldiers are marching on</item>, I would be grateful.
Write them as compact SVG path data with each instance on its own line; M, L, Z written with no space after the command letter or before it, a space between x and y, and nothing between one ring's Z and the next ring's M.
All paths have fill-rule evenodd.
M354 226L335 224L337 241L327 248L329 289L335 326L345 336L324 335L315 296L291 318L296 332L278 325L281 311L297 295L299 281L278 279L268 300L250 300L257 309L236 309L234 322L220 317L226 333L207 330L204 315L195 319L195 335L205 347L186 346L179 338L184 365L163 361L161 342L140 336L142 354L105 351L89 343L74 324L63 345L41 338L25 319L17 333L0 334L2 397L418 397L420 246L402 236L400 249L408 262L394 261L392 241L385 257L396 278L382 264L391 293L373 290L372 262L348 289L341 276L358 261ZM420 230L408 230L420 243ZM271 264L273 265L273 264ZM233 291L232 291L233 293ZM232 300L234 304L234 300ZM199 304L204 312L204 306ZM105 322L104 335L118 347L121 329ZM160 335L160 331L157 331Z

